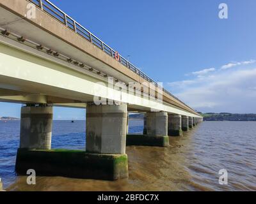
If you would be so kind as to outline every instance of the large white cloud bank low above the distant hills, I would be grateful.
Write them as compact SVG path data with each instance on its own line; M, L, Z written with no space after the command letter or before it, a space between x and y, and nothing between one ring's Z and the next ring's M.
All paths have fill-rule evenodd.
M228 69L169 85L175 96L202 112L256 113L255 78L256 68Z

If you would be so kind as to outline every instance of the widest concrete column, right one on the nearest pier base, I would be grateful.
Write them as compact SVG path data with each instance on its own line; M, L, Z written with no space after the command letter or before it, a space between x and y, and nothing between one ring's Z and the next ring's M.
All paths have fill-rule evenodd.
M125 154L127 105L86 107L86 152Z

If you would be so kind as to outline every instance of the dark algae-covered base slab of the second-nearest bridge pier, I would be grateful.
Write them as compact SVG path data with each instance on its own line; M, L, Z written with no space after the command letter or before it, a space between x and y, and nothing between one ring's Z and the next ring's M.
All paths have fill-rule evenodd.
M168 136L127 135L127 146L168 147Z

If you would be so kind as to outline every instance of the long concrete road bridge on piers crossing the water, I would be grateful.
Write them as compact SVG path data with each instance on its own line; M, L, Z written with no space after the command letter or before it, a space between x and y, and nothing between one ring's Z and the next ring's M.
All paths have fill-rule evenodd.
M16 171L128 177L126 145L167 147L202 116L47 0L0 0L0 101L23 104ZM86 108L85 151L51 149L53 106ZM129 135L129 112L143 135Z

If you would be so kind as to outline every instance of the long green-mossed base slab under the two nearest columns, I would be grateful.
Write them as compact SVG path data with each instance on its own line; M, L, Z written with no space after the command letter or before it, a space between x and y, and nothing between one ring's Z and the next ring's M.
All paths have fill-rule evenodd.
M117 180L129 177L127 154L90 154L83 150L18 149L15 170L26 175Z

